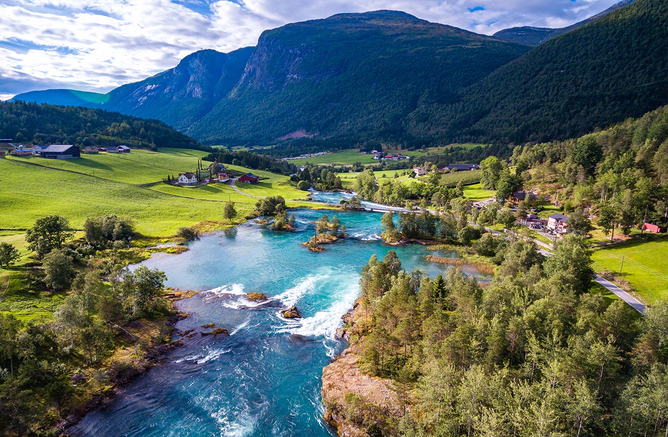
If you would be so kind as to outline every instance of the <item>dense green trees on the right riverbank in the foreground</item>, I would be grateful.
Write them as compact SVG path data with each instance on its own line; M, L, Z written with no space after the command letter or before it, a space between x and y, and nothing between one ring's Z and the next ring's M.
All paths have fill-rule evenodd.
M588 293L579 237L548 259L525 241L501 255L486 287L371 257L351 344L367 373L394 380L403 414L348 395L346 420L369 436L663 436L668 305L641 318Z

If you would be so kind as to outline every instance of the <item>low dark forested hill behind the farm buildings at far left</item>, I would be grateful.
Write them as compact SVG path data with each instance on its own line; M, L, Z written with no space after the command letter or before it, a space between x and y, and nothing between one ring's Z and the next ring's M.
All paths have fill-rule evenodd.
M76 106L0 102L0 137L17 143L212 150L158 120Z

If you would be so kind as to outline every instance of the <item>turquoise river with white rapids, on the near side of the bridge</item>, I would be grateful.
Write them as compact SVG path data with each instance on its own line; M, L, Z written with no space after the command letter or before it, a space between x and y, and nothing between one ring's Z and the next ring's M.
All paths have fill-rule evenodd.
M181 331L216 323L230 335L184 340L166 362L130 384L111 406L88 414L73 437L335 436L323 423L324 366L345 347L335 336L341 315L359 292L359 272L371 255L395 249L403 268L442 273L420 245L380 241L380 214L295 210L297 232L256 223L207 235L180 255L158 254L143 264L164 271L167 285L198 290L178 303L190 317ZM299 245L327 212L347 227L348 239L312 253ZM439 253L454 257L452 253ZM473 272L469 272L473 273ZM271 297L257 304L246 293ZM281 308L297 305L303 318Z

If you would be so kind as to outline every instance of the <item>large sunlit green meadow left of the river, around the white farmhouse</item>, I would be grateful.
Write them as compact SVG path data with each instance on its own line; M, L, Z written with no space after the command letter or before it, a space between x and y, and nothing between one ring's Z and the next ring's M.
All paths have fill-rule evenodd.
M140 233L158 237L172 235L181 226L221 220L222 202L230 198L238 203L240 216L251 212L257 198L244 196L226 184L185 188L160 182L168 174L195 170L204 155L198 150L162 149L84 155L74 160L0 158L1 228L25 230L40 216L60 214L81 229L86 217L113 212L131 217ZM228 168L267 178L257 185L240 184L238 188L248 194L280 194L286 200L306 196L287 176L239 166ZM160 183L142 186L152 182ZM0 241L8 239L0 235Z

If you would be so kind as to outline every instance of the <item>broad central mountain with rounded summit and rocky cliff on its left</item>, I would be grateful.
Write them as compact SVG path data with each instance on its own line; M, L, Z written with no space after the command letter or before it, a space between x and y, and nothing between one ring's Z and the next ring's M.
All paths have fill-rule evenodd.
M239 83L186 132L207 144L396 140L420 102L456 101L526 50L397 11L293 23L261 35Z

